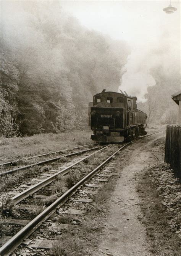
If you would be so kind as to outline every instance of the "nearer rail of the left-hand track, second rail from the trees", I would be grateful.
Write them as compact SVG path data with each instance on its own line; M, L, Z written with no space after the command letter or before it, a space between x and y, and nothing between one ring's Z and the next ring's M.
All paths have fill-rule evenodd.
M25 165L25 166L22 166L22 167L18 167L18 168L9 170L9 171L0 172L0 176L6 175L6 174L9 174L9 173L13 173L13 172L17 172L19 170L25 170L25 169L31 168L33 166L42 165L42 164L45 164L45 163L48 163L48 162L53 162L53 161L58 160L58 159L63 158L63 157L70 157L70 156L73 156L73 155L82 154L84 152L95 150L95 149L98 149L100 147L102 147L102 146L93 147L92 149L81 150L81 151L74 152L74 153L67 154L67 155L61 155L60 157L54 157L54 158L47 159L47 160L44 160L44 161L41 161L41 162L37 162L37 163L34 163L34 164L29 164L29 165Z

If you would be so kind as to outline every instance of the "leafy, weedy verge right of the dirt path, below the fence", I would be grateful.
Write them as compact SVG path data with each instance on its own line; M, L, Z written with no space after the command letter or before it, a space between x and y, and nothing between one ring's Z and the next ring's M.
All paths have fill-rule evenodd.
M154 255L181 255L181 185L165 164L139 175L137 192Z

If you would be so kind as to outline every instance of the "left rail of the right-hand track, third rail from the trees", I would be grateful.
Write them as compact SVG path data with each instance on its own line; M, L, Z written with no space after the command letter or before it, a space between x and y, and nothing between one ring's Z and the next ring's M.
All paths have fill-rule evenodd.
M43 187L47 186L48 184L52 183L54 180L56 180L56 178L57 178L58 175L60 175L60 174L61 174L61 175L65 175L66 173L68 173L68 170L69 170L70 168L72 168L74 165L77 165L77 164L81 163L82 161L84 161L84 160L87 159L88 157L91 157L92 155L96 154L97 152L99 152L99 151L105 149L106 147L108 147L108 145L107 145L107 146L102 146L102 147L103 147L102 149L100 149L100 150L98 150L98 151L92 153L91 155L88 155L88 156L84 157L83 159L77 161L76 163L74 163L74 164L72 164L72 165L66 167L65 169L63 169L63 170L61 170L61 171L59 171L59 172L53 174L52 176L50 176L50 177L48 177L48 178L42 180L41 182L39 182L39 183L33 185L32 187L30 187L30 188L24 190L23 192L19 193L18 195L15 195L15 196L12 197L11 199L12 199L12 200L15 200L16 203L19 203L20 201L22 201L22 200L24 200L25 198L29 197L29 195L32 195L33 193L37 192L37 191L40 190L41 188L43 188Z

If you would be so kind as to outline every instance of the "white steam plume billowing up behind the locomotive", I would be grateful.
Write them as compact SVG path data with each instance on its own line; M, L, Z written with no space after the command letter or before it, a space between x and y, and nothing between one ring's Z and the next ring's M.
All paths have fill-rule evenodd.
M179 38L179 34L177 36ZM180 73L177 36L165 30L158 41L139 43L128 56L127 63L121 70L123 75L119 89L129 95L137 96L138 102L145 102L147 101L145 94L149 86L156 86L158 80L164 86L163 77L173 79L174 82L175 76Z

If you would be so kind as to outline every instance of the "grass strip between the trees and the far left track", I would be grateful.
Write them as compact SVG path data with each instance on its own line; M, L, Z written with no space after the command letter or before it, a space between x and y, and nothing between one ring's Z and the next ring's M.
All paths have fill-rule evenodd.
M90 137L91 130L36 134L31 137L0 137L0 162L91 144Z

